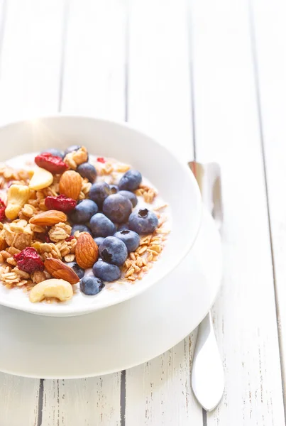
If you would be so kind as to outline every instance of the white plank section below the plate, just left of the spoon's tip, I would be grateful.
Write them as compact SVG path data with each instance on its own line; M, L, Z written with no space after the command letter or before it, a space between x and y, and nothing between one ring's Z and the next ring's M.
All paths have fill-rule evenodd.
M162 356L126 371L126 426L202 425L190 368L197 332Z

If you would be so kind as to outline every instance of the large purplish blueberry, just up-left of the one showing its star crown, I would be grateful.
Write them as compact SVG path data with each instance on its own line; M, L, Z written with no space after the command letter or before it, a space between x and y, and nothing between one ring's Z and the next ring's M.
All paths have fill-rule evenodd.
M132 212L131 201L119 194L109 195L104 200L102 211L112 222L121 224L128 220Z

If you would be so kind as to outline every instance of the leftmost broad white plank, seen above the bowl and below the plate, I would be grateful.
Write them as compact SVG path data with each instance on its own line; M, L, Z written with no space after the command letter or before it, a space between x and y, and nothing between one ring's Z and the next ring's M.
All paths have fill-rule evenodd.
M6 2L0 42L1 123L57 110L61 22L62 1ZM0 373L0 424L37 425L39 391L38 380Z

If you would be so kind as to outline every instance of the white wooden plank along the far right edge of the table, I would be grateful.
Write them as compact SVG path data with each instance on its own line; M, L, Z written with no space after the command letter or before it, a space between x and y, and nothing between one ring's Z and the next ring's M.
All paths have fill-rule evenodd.
M283 377L286 375L286 4L252 1ZM285 397L286 398L286 397ZM286 399L285 399L286 405Z

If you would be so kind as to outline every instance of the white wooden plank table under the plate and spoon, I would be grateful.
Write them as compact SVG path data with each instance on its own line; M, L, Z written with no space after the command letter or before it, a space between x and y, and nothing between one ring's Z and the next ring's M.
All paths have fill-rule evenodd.
M285 0L1 0L0 11L1 123L55 111L127 120L185 161L221 164L212 313L226 376L205 413L190 386L196 332L110 376L0 373L0 426L285 425Z

